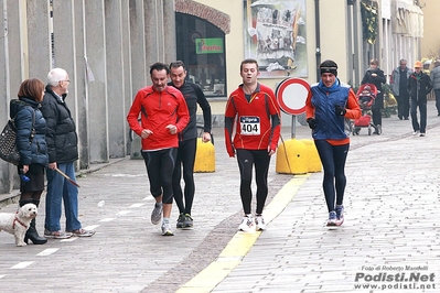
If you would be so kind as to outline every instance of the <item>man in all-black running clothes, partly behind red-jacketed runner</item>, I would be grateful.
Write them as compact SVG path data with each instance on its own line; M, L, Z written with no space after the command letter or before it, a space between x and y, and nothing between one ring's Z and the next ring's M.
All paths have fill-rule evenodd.
M211 140L211 106L202 89L185 80L186 68L181 61L170 64L171 82L169 86L179 89L185 98L190 112L190 122L185 129L179 133L179 149L173 172L173 195L179 207L178 228L192 228L193 218L191 209L194 200L194 163L195 151L197 149L197 104L203 111L204 132L202 142ZM185 183L184 194L182 193L181 180L183 167L183 181ZM183 197L184 196L184 197Z

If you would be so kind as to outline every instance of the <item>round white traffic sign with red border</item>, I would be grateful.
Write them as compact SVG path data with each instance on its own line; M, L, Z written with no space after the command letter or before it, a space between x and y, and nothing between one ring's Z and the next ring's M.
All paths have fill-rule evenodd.
M301 115L305 111L305 99L310 85L302 78L290 77L282 80L275 91L280 109L290 115Z

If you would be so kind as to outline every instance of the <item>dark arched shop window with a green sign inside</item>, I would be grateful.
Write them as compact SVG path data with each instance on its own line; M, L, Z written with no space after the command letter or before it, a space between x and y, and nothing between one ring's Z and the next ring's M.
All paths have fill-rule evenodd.
M175 13L178 59L206 97L226 96L225 33L208 21Z

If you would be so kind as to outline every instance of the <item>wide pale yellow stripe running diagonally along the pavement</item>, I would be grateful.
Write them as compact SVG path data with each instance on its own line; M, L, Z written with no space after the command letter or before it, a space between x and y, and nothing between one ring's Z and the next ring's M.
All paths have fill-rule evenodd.
M266 223L269 224L272 221L286 208L309 176L310 173L296 175L282 186L272 200L270 200L270 204L265 207L264 215ZM187 283L183 284L176 293L213 291L217 284L240 264L243 258L249 252L260 235L260 231L251 234L236 232L218 258Z

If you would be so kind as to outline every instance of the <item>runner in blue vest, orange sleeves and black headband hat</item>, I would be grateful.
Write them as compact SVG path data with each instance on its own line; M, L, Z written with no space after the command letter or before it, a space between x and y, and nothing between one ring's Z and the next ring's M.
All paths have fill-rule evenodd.
M323 189L329 210L328 226L344 223L345 162L350 149L348 119L358 119L361 108L353 89L342 84L337 64L328 59L320 65L321 80L311 86L305 100L305 119L312 129L324 169Z

